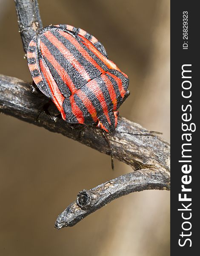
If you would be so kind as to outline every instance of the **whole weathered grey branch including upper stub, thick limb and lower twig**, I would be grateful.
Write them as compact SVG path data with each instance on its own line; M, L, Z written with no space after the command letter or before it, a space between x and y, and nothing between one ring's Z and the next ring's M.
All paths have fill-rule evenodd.
M26 51L29 41L36 35L37 29L42 27L39 9L36 0L15 0L15 3L23 47ZM119 117L117 128L108 134L109 145L102 131L95 127L72 126L63 120L51 122L42 113L43 105L49 99L43 95L33 95L29 86L29 83L20 79L0 75L0 112L42 126L49 131L61 133L100 152L110 154L112 150L116 159L134 169L133 173L80 192L77 201L70 204L58 217L55 227L60 229L73 226L110 201L134 191L170 189L170 146L157 134ZM53 105L52 111L56 111ZM82 136L80 128L83 131Z

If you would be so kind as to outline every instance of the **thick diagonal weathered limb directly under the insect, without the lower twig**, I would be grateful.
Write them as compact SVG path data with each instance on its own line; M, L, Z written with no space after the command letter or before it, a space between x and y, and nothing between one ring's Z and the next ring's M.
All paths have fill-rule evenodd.
M110 154L111 147L114 157L134 170L151 168L169 172L169 143L156 134L150 134L140 125L119 117L117 128L108 134L109 147L103 132L95 126L72 126L62 119L56 123L51 122L42 113L43 105L49 99L43 95L34 95L29 86L29 83L20 79L0 75L0 112L61 133L106 154ZM56 110L53 104L52 108L52 111Z

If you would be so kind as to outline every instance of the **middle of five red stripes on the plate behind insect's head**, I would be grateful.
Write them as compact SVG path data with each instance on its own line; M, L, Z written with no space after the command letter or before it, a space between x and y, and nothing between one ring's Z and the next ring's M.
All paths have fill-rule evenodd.
M109 122L109 125L111 125L111 121L108 115L108 107L105 101L105 98L103 96L103 93L101 91L101 88L99 87L97 81L92 80L89 83L86 84L86 86L94 93L94 95L97 97L97 99L100 102L100 105L103 109L103 113L106 116L107 121Z

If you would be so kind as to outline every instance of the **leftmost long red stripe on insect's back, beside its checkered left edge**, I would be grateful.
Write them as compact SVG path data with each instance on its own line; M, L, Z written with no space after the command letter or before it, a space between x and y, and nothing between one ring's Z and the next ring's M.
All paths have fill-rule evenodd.
M62 118L66 119L66 115L63 111L63 106L62 106L65 97L60 92L53 76L51 75L49 67L47 67L47 65L44 63L44 61L42 59L40 60L40 69L41 69L41 72L43 73L43 75L45 76L46 81L49 85L49 88L51 90L51 95L53 98L52 100L53 100L54 104L57 106L57 109L60 111Z

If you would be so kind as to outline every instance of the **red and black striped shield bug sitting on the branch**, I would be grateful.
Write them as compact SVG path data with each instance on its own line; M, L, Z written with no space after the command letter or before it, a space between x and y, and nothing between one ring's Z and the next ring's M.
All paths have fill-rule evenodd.
M48 26L31 40L27 57L34 83L66 122L116 128L129 78L94 36L70 25Z

